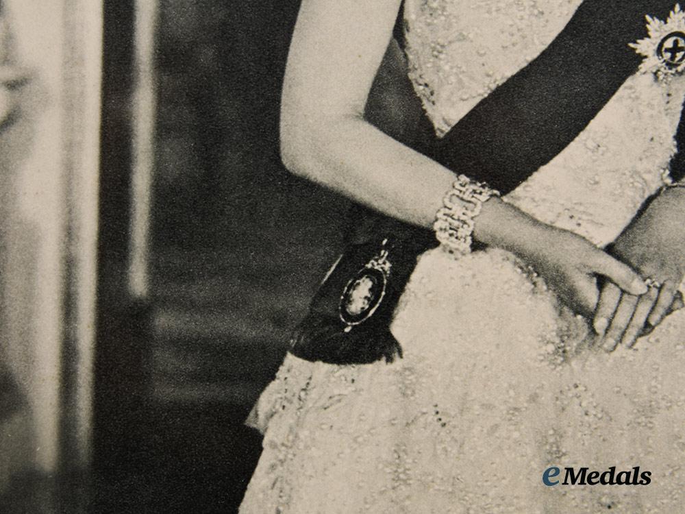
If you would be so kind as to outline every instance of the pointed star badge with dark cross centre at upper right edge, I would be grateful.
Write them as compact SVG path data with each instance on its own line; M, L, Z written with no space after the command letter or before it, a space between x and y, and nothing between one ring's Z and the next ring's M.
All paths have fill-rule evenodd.
M666 21L649 15L645 19L649 35L629 45L645 57L640 71L654 73L658 79L682 73L685 70L685 12L680 4L675 4Z

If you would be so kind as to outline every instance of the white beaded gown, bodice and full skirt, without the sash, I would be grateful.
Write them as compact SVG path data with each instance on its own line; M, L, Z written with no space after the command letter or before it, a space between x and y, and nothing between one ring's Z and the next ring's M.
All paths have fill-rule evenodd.
M444 134L536 57L580 0L408 0L416 91ZM626 42L627 44L628 42ZM685 77L636 73L508 195L603 246L667 180ZM391 326L395 363L288 355L256 412L264 452L241 506L264 513L673 513L685 509L685 310L636 350L499 249L421 256ZM543 484L551 466L649 485Z

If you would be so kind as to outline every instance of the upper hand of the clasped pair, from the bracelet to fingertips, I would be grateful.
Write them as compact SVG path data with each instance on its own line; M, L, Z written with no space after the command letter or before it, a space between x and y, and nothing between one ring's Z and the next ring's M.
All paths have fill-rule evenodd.
M504 221L503 221L504 220ZM488 245L523 259L575 313L590 319L595 312L602 276L619 291L642 295L642 277L585 238L542 223L510 204L490 199L475 219L474 235Z

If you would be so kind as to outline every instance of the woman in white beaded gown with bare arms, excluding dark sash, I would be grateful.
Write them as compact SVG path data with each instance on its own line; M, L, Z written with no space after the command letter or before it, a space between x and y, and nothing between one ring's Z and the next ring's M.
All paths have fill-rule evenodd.
M538 56L581 3L406 1L411 77L436 133ZM453 175L358 116L397 9L303 1L284 162L430 226ZM649 45L685 31L685 16L666 21L645 30L645 64L573 143L483 204L473 235L486 249L421 256L391 326L402 358L286 356L256 406L264 452L241 513L682 511L685 310L660 313L685 271L685 188L664 188L685 77L661 75ZM640 276L601 250L612 242ZM645 293L636 280L648 276L660 287ZM647 321L656 328L638 338ZM582 468L586 480L562 483ZM594 471L614 485L589 485Z

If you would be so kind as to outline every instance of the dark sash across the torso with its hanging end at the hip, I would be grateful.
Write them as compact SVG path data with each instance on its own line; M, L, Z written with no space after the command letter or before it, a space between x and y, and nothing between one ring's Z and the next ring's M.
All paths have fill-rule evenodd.
M665 19L673 6L673 0L584 1L540 56L480 101L442 139L434 136L423 115L406 70L403 81L397 80L400 75L392 79L379 73L374 87L391 94L384 95L386 101L370 101L366 117L455 173L509 193L569 145L636 73L640 56L628 43L645 36L645 14ZM377 98L373 93L372 89L370 98ZM388 100L393 96L401 99L400 110L397 102ZM679 134L685 135L683 125ZM684 159L679 153L674 164L680 160ZM389 330L397 301L416 257L437 243L429 230L362 206L351 210L347 243L345 254L312 300L310 313L295 329L290 352L333 364L381 358L391 362L401 356ZM351 279L363 275L382 248L392 265L383 279L384 294L371 298L371 303L378 301L373 313L351 326L344 312L341 317L341 296L349 293ZM377 294L379 286L370 291L366 293Z

